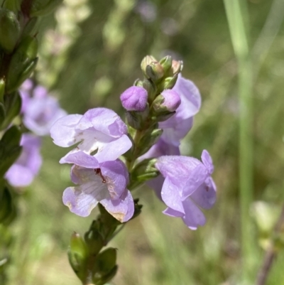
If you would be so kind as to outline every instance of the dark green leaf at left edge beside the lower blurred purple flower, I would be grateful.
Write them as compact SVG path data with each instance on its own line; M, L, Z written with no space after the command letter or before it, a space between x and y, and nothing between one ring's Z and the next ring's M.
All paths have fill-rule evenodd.
M4 176L21 154L20 140L21 131L16 126L9 128L2 137L0 141L0 177Z

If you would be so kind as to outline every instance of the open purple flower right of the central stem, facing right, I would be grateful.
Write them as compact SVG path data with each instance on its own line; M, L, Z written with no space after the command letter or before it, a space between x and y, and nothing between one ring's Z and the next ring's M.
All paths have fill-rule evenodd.
M160 196L168 208L163 213L181 217L192 230L206 221L200 208L212 208L216 201L212 158L205 150L201 158L161 156L155 163L165 178Z

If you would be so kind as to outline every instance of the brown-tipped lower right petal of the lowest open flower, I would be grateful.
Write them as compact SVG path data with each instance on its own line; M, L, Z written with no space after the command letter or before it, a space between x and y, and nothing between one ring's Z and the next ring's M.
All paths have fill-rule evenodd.
M104 199L100 203L119 222L127 222L133 216L134 203L129 190L126 190L118 200Z

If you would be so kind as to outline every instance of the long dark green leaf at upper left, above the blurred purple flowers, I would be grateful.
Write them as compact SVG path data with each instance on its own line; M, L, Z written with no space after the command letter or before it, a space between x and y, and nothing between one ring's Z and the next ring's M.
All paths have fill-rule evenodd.
M31 75L37 63L37 53L37 39L32 36L26 36L18 45L11 58L6 80L6 91L8 93L18 89L23 81Z

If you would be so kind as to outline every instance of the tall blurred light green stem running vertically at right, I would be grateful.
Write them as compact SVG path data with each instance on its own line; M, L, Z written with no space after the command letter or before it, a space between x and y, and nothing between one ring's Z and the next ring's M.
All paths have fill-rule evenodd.
M239 68L239 197L242 278L251 279L255 242L249 207L253 201L253 72L242 0L224 0L231 41Z

